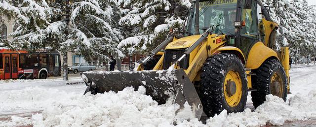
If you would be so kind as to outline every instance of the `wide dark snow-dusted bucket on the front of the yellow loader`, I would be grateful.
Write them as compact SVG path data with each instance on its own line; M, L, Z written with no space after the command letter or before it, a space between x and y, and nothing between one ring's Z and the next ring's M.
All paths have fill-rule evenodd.
M181 111L187 101L195 117L202 114L202 104L197 91L183 69L158 71L124 71L124 72L83 72L81 77L87 85L85 93L91 91L104 93L122 91L132 86L135 90L139 86L146 88L146 95L152 96L158 104L164 104L170 97L174 103L180 105ZM84 94L85 94L84 93Z

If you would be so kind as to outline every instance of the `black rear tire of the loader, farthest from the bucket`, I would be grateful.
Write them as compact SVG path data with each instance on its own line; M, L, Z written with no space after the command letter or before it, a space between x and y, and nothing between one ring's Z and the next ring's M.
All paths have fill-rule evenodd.
M284 101L286 101L287 78L284 68L278 60L269 59L265 61L258 69L253 70L253 72L256 73L256 75L251 77L252 87L257 91L251 92L251 100L255 108L263 104L263 102L266 101L266 95L269 94L279 96ZM279 85L279 89L282 91L279 91L277 94L275 92L276 86L271 82L275 73L277 73L282 80L282 84Z

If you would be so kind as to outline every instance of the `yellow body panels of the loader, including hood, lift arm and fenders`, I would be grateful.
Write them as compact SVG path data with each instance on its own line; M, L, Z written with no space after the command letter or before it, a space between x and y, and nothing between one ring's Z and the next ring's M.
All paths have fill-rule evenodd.
M269 29L265 29L265 30L269 30ZM193 35L193 36L186 36L180 39L174 39L173 42L170 42L170 44L166 46L165 50L188 48L192 44L194 44L194 42L196 42L200 36L201 35ZM189 76L192 82L200 80L200 77L199 77L200 69L202 68L206 59L218 53L232 53L238 56L238 58L244 64L245 68L247 68L246 74L247 74L247 80L248 80L248 89L252 88L251 70L259 68L261 64L263 64L266 60L270 58L280 60L280 62L282 63L285 69L286 75L289 79L289 72L288 72L289 70L288 59L289 58L285 57L285 56L288 56L288 47L282 48L282 51L278 53L279 54L278 55L276 51L267 47L263 42L258 42L252 46L249 54L247 55L248 58L246 59L245 55L242 53L242 51L239 48L234 47L234 46L225 46L225 43L228 41L228 40L225 40L225 36L226 35L217 35L217 34L208 35L207 39L204 42L202 42L190 54L189 67L185 69L185 72ZM161 55L161 52L159 54ZM164 55L162 55L162 57L160 58L156 66L154 67L154 70L162 69L163 60L164 60Z

